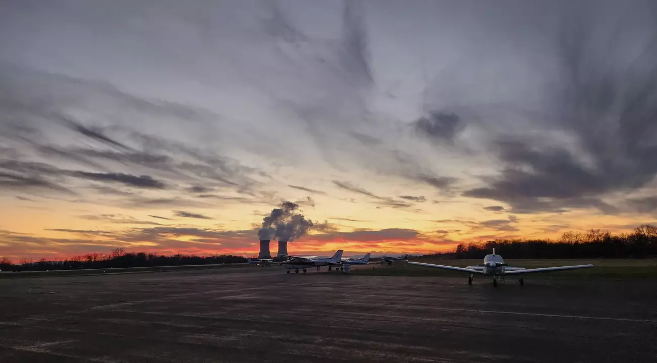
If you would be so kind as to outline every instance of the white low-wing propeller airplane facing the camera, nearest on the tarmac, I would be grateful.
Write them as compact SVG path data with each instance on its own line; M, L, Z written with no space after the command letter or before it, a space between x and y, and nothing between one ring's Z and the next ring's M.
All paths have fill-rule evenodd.
M468 267L454 267L454 266L445 266L445 265L434 265L433 263L421 263L421 262L409 262L411 265L419 265L426 267L436 267L438 269L447 269L455 271L463 271L470 273L468 277L468 284L472 284L472 279L474 274L480 273L486 277L493 277L493 286L497 287L497 278L504 280L506 275L520 275L523 273L539 273L547 271L562 271L562 270L573 270L573 269L585 269L587 267L593 267L593 265L570 265L570 266L558 266L558 267L540 267L538 269L525 269L524 267L512 267L509 264L504 263L502 256L495 254L495 248L493 248L493 254L486 255L484 257L484 263L476 266ZM522 277L518 278L520 285L524 285Z

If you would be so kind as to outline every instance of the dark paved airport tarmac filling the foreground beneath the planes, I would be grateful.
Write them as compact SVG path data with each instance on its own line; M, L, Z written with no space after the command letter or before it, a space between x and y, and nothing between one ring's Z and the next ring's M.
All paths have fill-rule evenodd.
M0 361L655 362L650 282L288 275L0 280ZM366 267L367 268L367 267ZM254 271L254 269L257 269Z

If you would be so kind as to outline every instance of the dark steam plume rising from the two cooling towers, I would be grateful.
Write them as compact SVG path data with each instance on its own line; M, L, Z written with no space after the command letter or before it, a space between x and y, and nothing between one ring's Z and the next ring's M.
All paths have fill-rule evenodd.
M271 210L271 214L262 220L262 228L258 231L258 239L291 241L303 237L313 222L306 220L302 214L295 214L299 204L283 202L279 208Z

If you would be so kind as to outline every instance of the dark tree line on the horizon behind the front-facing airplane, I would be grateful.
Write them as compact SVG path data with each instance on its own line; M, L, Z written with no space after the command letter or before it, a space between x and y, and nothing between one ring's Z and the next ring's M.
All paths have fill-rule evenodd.
M657 257L657 227L641 225L632 233L612 235L591 229L566 232L558 240L501 239L459 244L455 251L434 256L482 259L495 248L504 258L646 258Z

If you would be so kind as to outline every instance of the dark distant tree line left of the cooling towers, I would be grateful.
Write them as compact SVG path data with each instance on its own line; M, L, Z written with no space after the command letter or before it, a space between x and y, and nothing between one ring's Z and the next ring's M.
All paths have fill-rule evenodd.
M0 259L2 271L46 271L69 269L110 269L119 267L164 267L180 265L214 265L219 263L243 263L246 258L233 255L189 256L175 254L173 256L146 254L145 252L125 252L123 248L112 250L111 254L85 254L74 256L64 261L39 261L23 259L14 264L9 259Z

